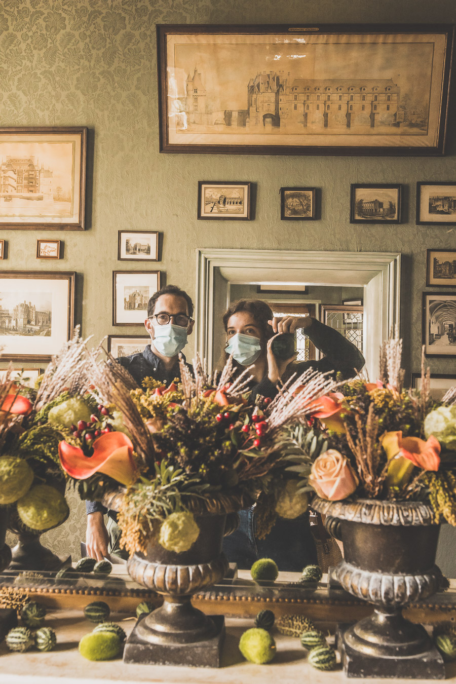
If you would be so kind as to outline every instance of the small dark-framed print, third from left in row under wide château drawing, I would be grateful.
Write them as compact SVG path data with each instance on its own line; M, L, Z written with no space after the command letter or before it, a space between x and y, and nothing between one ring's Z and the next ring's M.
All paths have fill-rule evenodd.
M401 223L401 185L352 183L350 223Z

